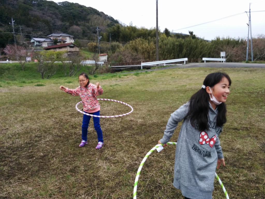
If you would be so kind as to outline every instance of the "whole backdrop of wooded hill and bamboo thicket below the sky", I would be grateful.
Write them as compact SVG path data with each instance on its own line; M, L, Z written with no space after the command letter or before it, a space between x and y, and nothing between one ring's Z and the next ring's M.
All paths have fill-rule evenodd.
M14 34L12 19L16 24ZM67 1L0 0L0 48L14 44L14 37L17 45L25 46L30 45L31 37L46 37L51 33L73 35L74 43L81 49L96 53L99 48L100 53L109 55L108 61L112 63L156 60L155 28L120 24L94 8ZM220 58L222 51L226 52L227 62L246 60L246 38L216 37L208 41L198 38L193 31L185 35L171 33L167 28L158 34L159 60L188 58L189 62L200 62L202 57ZM253 61L264 61L265 36L253 38L252 44ZM249 42L248 60L251 54Z

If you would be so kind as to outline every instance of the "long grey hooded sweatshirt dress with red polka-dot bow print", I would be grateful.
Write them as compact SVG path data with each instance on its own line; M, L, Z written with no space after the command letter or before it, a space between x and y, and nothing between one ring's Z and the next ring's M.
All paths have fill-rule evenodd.
M189 102L171 114L164 136L160 140L167 143L189 110ZM189 119L184 119L176 145L174 182L182 195L193 199L212 199L217 158L223 158L219 135L222 127L216 126L218 109L209 103L209 130L199 131Z

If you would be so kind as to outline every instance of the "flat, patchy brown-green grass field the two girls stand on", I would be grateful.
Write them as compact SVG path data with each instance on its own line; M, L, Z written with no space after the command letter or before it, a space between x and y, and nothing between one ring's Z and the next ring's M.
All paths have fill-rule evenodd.
M102 118L104 146L96 150L92 121L89 143L79 148L80 97L59 90L78 86L78 77L40 80L0 76L0 198L133 198L134 180L145 154L162 138L172 112L201 88L211 72L232 79L227 123L220 135L226 167L216 172L231 199L265 198L265 70L188 68L92 77L99 98L126 102L134 111ZM130 111L100 101L101 115ZM79 108L81 108L79 106ZM180 125L170 141L176 142ZM175 146L153 152L141 171L137 198L183 198L173 187ZM225 198L215 181L213 198Z

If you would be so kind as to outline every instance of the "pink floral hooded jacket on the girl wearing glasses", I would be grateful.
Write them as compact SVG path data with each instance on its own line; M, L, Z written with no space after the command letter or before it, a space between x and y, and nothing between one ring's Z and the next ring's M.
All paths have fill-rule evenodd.
M100 104L96 96L103 93L101 86L97 89L96 85L89 83L87 88L84 86L78 86L76 89L66 88L64 92L73 96L79 95L83 102L83 111L94 113L100 110Z

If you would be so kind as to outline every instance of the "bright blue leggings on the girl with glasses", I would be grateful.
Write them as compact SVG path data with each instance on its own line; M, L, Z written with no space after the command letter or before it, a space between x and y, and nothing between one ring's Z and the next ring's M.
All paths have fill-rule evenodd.
M100 111L97 111L95 113L88 113L91 115L100 115L99 113ZM87 113L87 112L85 112ZM87 129L88 129L88 125L89 125L89 121L90 121L91 116L89 115L85 115L83 114L83 122L82 122L82 140L87 141ZM99 123L99 118L98 117L93 117L93 122L94 122L94 128L98 134L98 141L99 142L103 142L103 134L102 134L102 130L100 127L100 123Z

